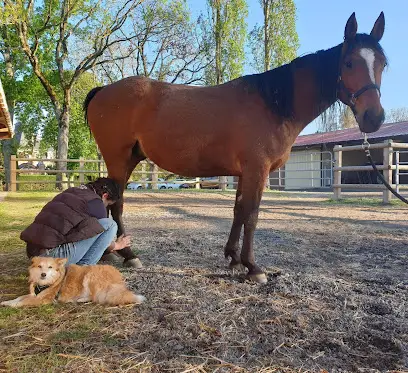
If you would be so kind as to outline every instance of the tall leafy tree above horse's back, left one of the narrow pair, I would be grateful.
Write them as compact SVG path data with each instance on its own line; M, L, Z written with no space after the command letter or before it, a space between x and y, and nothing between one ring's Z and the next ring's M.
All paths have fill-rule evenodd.
M244 71L248 15L246 0L207 0L209 20L204 32L210 35L210 55L215 66L207 68L206 83L221 84Z

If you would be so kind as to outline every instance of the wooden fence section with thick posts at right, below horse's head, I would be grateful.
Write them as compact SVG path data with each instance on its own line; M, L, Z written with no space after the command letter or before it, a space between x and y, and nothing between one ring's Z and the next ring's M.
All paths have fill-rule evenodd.
M382 158L383 163L378 165L377 168L379 171L382 171L384 179L396 189L407 189L408 185L399 185L399 172L408 171L408 164L400 164L399 162L399 153L396 152L396 164L394 164L394 151L395 149L408 149L408 144L405 143L396 143L392 140L386 140L383 143L371 144L371 149L383 149ZM381 184L342 184L341 183L341 173L342 171L371 171L373 168L371 165L367 166L343 166L343 152L362 150L361 145L353 146L341 146L336 145L333 149L335 154L335 166L334 166L334 183L333 183L333 192L334 199L341 199L342 189L350 190L379 190L382 191L382 199L384 203L389 203L392 198L392 193L381 183ZM393 171L396 171L396 183L392 184L392 174Z

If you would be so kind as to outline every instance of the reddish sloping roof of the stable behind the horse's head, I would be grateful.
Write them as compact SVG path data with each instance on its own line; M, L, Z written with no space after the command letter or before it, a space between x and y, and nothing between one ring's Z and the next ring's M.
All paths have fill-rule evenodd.
M391 139L398 136L408 135L408 122L386 123L377 132L368 133L368 139ZM364 138L358 127L345 130L314 133L312 135L298 136L293 147L320 145L320 144L343 144L353 141L361 141Z

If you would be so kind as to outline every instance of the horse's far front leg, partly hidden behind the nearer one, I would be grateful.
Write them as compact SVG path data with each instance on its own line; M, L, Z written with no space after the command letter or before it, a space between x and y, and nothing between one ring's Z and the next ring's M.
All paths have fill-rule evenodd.
M232 223L231 232L228 238L228 242L225 245L224 254L225 258L231 257L230 268L240 268L240 250L239 250L239 238L241 236L242 226L244 224L242 216L242 178L239 178L237 193L235 196L234 206L234 221Z

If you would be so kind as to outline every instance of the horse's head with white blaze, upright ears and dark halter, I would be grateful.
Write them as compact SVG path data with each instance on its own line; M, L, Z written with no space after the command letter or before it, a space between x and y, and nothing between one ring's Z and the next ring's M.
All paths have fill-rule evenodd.
M357 34L353 13L347 21L340 60L339 99L350 106L362 132L375 132L384 122L381 76L387 59L379 41L384 33L381 12L370 35Z

